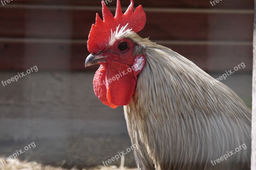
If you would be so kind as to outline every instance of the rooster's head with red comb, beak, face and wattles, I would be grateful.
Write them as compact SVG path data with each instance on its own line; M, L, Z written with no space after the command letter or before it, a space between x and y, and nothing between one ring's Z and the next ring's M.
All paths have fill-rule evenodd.
M133 12L133 0L124 14L117 0L115 17L102 1L102 14L103 21L96 14L89 34L87 48L91 54L85 67L100 64L93 79L94 93L103 104L116 108L130 102L146 62L144 53L138 53L140 45L129 36L143 29L146 14L141 5Z

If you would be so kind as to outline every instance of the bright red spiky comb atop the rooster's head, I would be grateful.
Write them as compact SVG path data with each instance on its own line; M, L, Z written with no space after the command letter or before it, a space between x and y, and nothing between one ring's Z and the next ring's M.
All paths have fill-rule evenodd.
M131 0L131 4L124 14L122 13L120 0L117 0L115 17L113 17L104 2L101 1L101 3L103 21L97 13L96 23L92 25L87 41L87 48L90 53L98 53L106 48L111 30L113 32L116 31L118 25L121 28L128 23L125 30L132 29L133 32L139 32L146 23L146 14L141 5L133 12L133 0Z

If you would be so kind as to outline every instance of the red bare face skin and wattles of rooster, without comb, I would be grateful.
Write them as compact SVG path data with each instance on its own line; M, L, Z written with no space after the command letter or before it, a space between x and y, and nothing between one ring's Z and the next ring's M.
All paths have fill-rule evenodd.
M122 42L128 45L124 51L118 49ZM146 59L144 55L134 56L134 47L130 39L119 39L101 53L106 58L105 62L98 63L100 68L94 76L93 88L100 101L111 108L127 105L135 93L137 75L142 71ZM138 68L135 64L139 58L143 60Z

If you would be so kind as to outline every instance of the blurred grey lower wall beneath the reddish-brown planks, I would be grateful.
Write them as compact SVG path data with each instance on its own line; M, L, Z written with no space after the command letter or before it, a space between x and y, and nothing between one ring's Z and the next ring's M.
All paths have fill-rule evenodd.
M5 87L0 84L0 156L8 157L35 142L36 148L18 158L94 166L131 146L123 108L111 109L94 95L93 72L38 69ZM0 81L16 74L0 72ZM232 74L221 82L250 103L251 74ZM132 152L125 156L125 165L135 166Z

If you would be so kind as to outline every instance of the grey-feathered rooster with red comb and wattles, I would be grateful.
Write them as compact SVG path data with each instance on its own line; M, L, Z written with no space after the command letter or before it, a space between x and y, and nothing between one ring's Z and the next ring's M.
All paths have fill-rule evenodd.
M141 38L146 14L141 5L133 11L133 0L124 14L117 0L114 17L102 1L102 14L89 34L85 67L100 64L93 79L100 101L124 106L138 169L250 169L251 111L235 92Z

